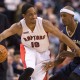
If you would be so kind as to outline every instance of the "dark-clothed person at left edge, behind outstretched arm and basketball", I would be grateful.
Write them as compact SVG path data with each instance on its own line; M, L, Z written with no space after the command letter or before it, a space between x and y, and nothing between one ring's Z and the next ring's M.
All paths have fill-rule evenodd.
M8 22L8 19L5 15L0 13L0 33L3 32L5 29L9 28L10 24ZM0 44L6 45L6 39L0 42ZM7 60L0 63L0 80L6 80L6 72L7 72Z

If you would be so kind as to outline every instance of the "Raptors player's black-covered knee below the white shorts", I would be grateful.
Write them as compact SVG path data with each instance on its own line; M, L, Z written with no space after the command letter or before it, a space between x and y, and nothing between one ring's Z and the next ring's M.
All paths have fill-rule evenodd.
M30 80L30 76L32 75L33 71L33 68L26 68L19 77L19 80Z

